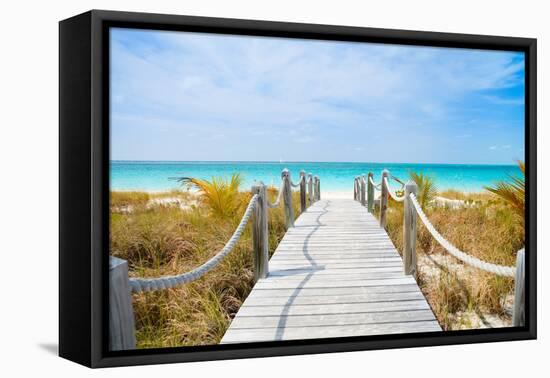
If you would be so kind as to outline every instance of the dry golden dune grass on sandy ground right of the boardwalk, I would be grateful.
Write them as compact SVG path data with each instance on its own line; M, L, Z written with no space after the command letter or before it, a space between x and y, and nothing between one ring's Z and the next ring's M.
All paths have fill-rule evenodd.
M446 191L438 195L474 204L458 209L424 207L430 221L447 240L482 260L515 265L516 253L524 247L525 235L514 208L490 192ZM388 208L388 234L402 251L403 204L390 198ZM418 282L442 327L446 330L468 328L461 314L472 312L480 317L494 314L508 319L505 300L513 293L513 279L476 270L449 257L420 220L417 225Z

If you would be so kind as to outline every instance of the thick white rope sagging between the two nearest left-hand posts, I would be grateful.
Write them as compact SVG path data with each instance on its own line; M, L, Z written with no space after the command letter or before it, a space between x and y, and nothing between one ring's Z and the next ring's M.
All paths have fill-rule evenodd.
M241 218L241 222L237 226L237 229L235 230L229 241L222 248L222 250L210 260L190 272L178 274L177 276L166 276L158 278L130 278L130 288L132 289L132 291L137 293L141 291L169 289L177 285L194 281L216 267L237 244L237 241L241 237L250 216L254 212L254 208L258 203L258 198L259 197L257 194L254 194L252 196L252 199L250 200L248 207L246 208L244 215Z

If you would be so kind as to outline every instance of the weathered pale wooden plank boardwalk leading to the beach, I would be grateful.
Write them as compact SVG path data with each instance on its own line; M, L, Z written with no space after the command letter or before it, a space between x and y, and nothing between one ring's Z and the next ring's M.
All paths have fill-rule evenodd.
M330 199L288 230L222 343L429 331L441 328L378 221Z

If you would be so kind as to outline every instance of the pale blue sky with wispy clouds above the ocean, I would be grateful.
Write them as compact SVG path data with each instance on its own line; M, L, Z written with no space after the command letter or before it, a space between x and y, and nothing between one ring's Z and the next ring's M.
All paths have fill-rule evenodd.
M111 30L111 159L514 164L523 53Z

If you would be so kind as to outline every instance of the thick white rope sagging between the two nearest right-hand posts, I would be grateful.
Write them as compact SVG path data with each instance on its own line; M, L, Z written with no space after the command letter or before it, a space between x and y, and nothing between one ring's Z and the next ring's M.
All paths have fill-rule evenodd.
M451 255L456 257L457 259L461 260L462 262L473 266L474 268L484 270L489 273L493 273L499 276L506 276L506 277L514 277L516 274L516 268L513 266L503 266L503 265L496 265L491 264L486 261L480 260L476 257L470 256L467 253L462 252L458 248L456 248L454 245L452 245L447 239L443 237L432 225L424 211L422 210L422 207L420 207L420 204L418 203L418 200L416 199L416 196L414 193L409 194L410 199L416 209L416 212L428 231L430 231L430 234L445 248Z

